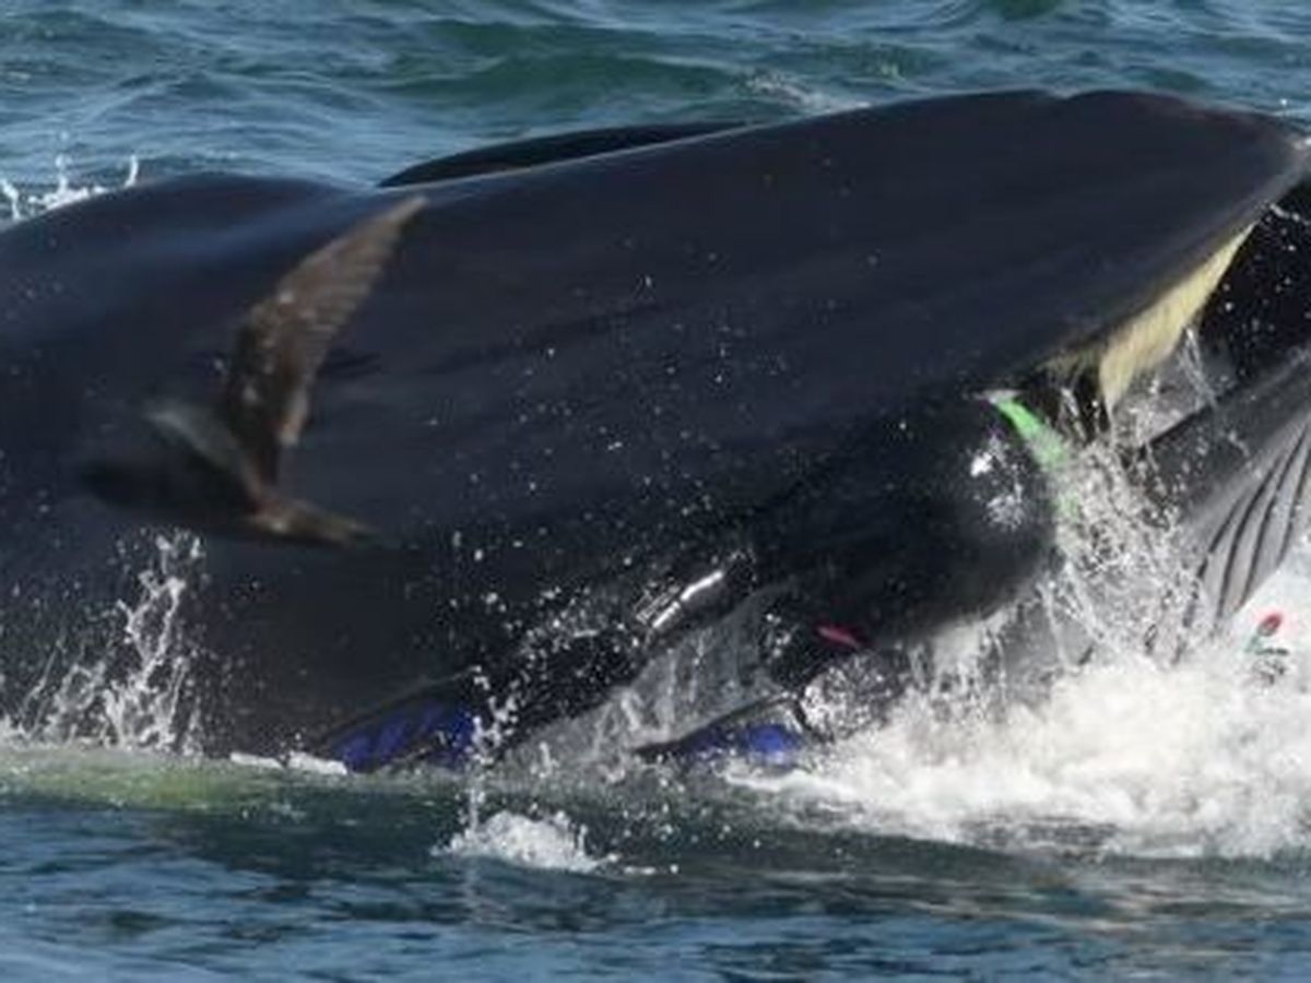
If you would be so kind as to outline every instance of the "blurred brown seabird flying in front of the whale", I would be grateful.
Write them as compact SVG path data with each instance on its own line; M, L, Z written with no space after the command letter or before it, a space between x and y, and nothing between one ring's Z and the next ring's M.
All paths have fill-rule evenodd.
M302 260L243 318L215 404L151 404L144 418L161 446L93 459L88 486L193 528L334 547L372 540L354 519L279 494L278 468L304 429L328 349L423 202L405 198Z

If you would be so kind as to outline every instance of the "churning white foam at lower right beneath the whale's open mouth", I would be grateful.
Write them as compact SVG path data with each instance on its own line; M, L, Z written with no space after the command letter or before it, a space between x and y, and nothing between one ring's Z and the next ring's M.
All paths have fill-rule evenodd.
M1307 587L1282 575L1238 625ZM1266 685L1235 636L1177 667L1108 661L1002 720L943 720L911 703L804 771L737 780L839 824L950 841L1072 836L1083 848L1091 834L1097 849L1135 856L1299 849L1311 840L1311 653L1281 637L1289 671Z

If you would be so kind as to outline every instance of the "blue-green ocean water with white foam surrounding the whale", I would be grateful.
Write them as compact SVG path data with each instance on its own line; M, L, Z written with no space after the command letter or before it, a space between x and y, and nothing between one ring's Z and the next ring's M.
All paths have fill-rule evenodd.
M0 187L22 216L201 169L372 181L570 127L1028 85L1311 126L1311 7L7 0ZM0 975L1304 976L1308 680L1303 547L1184 665L1127 645L1036 706L911 704L791 771L578 765L574 733L362 779L7 733Z

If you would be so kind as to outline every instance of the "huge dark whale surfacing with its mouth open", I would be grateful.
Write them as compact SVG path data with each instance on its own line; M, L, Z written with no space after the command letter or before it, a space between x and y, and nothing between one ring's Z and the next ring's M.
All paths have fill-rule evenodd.
M1058 505L1016 421L1097 439L1190 330L1223 392L1137 450L1228 616L1304 524L1307 155L1244 110L1003 92L17 223L0 710L104 654L170 530L210 754L456 764L762 598L791 692L1021 596Z

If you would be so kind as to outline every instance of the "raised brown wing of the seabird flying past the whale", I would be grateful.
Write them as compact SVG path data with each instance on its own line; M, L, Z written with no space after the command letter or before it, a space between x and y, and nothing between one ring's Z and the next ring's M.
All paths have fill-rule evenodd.
M311 253L243 318L219 413L266 482L277 481L282 451L300 438L328 349L423 201L405 198Z

